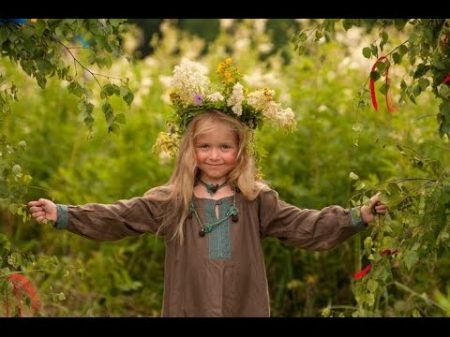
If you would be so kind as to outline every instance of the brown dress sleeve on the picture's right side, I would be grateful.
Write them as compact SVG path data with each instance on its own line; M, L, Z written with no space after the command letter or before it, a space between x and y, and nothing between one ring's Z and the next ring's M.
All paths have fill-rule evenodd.
M366 227L360 218L354 218L350 210L341 206L300 209L280 200L273 190L262 192L259 198L262 237L273 236L300 248L333 249Z

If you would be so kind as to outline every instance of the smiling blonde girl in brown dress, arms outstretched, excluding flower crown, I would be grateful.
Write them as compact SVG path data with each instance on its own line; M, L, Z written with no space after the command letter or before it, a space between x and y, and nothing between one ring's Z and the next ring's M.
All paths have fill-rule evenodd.
M346 210L300 209L256 178L251 129L229 112L201 111L184 131L169 182L114 204L29 202L40 223L93 240L155 233L166 244L163 316L269 316L261 241L336 247L385 213L378 195Z

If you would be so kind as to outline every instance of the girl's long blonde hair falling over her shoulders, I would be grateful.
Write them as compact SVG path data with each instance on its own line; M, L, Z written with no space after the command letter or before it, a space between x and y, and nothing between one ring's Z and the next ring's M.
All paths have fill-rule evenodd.
M236 167L228 174L228 183L237 187L248 200L254 200L261 191L268 188L257 178L254 158L249 149L252 131L239 120L217 110L197 115L189 123L181 139L176 166L169 181L167 184L153 188L145 194L152 200L170 202L171 208L178 210L164 215L158 232L175 223L176 230L173 232L172 238L178 237L180 243L183 242L183 227L190 213L190 201L199 174L194 142L199 135L210 131L215 123L227 125L237 137ZM164 193L155 193L156 191Z

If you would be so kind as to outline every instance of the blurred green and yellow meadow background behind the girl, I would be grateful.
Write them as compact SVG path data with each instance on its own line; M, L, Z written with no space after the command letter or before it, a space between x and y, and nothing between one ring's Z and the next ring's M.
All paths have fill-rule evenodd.
M44 27L42 34L64 24L35 20L36 29ZM298 126L291 133L265 126L256 133L263 177L283 200L301 208L353 207L382 191L391 207L388 217L332 251L310 252L265 240L272 315L448 316L450 157L448 137L438 132L442 102L426 85L416 104L405 98L401 85L411 74L392 63L389 94L397 111L387 109L383 79L375 82L375 111L368 84L376 57L366 57L363 49L379 39L376 20L349 29L336 23L333 35L318 36L314 27L321 22L132 19L124 23L120 39L105 38L103 47L93 46L100 40L92 25L94 35L86 30L80 38L63 41L70 48L60 57L70 66L73 57L86 65L67 70L90 92L82 103L69 75L49 77L42 88L35 76L27 76L26 66L4 51L0 89L12 92L13 83L18 99L8 103L9 110L2 101L0 124L0 315L160 315L161 238L92 242L36 224L24 204L40 197L61 204L112 203L166 182L174 162L155 153L153 145L158 133L167 131L171 116L173 67L188 58L213 75L219 62L232 57L248 87L273 88L282 105L296 114ZM1 42L22 33L20 27L8 29L0 26ZM54 29L61 39L67 36ZM386 26L384 49L410 38L408 29ZM301 31L313 32L316 41L298 50L294 42ZM92 63L98 60L90 48L108 50L108 43L116 42L122 52L109 64ZM48 53L51 48L46 47ZM107 81L126 87L117 89L120 95L105 94ZM131 102L125 99L131 97L127 88ZM110 123L108 109L121 117ZM369 263L372 270L355 279ZM8 281L17 272L38 295L20 295Z

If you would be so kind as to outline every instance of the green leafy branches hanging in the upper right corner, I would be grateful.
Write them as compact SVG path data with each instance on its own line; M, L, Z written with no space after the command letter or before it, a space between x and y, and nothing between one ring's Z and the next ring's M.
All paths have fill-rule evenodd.
M326 19L318 24L314 22L313 28L305 29L293 36L294 49L303 54L307 50L307 40L313 32L316 36L315 41L319 41L322 36L333 39L337 21L342 21L342 26L346 31L352 27L367 25L367 22L360 19ZM377 64L378 72L370 72L370 77L376 81L381 75L388 76L389 61L378 62L378 58L381 56L387 57L393 64L403 65L407 75L401 81L400 102L409 99L416 103L417 97L430 87L434 96L443 102L437 113L439 135L450 137L448 127L450 114L446 108L449 104L450 93L448 84L444 83L444 80L450 75L450 20L379 19L374 20L370 25L371 30L375 28L379 29L375 42L362 48L364 57L370 59L373 56L375 58L373 62ZM393 29L406 30L407 39L395 45L397 42L391 38ZM407 58L407 60L403 60L403 58ZM383 94L387 94L387 88Z

